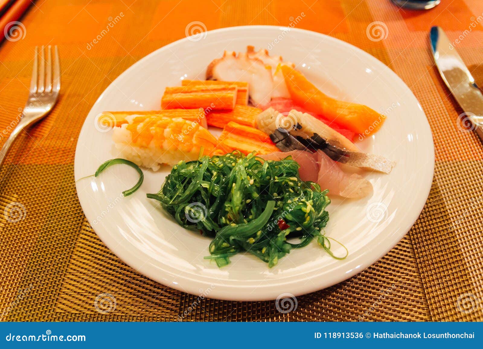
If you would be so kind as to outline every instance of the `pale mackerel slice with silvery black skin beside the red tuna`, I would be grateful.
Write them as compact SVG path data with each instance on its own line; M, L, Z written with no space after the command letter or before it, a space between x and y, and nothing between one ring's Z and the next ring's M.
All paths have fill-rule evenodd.
M384 173L395 166L384 156L361 152L339 132L307 113L292 110L284 115L269 108L258 114L256 125L284 152L322 150L334 161Z

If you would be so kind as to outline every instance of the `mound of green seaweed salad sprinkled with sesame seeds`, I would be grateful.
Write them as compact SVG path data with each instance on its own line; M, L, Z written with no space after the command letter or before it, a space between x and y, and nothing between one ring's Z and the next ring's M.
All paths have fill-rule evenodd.
M327 190L298 177L291 157L268 160L238 151L180 161L157 194L176 221L212 237L210 256L218 266L229 257L250 252L269 267L290 252L316 239L330 255L322 229L329 219ZM289 243L296 237L299 243Z

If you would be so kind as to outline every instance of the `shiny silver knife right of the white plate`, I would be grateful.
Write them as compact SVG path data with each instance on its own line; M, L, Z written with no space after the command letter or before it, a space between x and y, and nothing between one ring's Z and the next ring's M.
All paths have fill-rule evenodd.
M464 123L470 122L483 142L483 94L454 45L440 27L430 31L431 50L441 77L465 112Z

